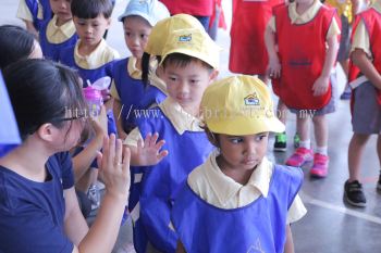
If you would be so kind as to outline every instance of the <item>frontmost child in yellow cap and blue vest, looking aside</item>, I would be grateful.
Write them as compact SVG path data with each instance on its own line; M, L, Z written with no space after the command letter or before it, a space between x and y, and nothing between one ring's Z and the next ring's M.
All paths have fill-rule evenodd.
M269 132L284 130L268 88L256 77L228 77L206 89L201 109L217 150L174 202L176 252L294 252L290 224L306 213L303 173L266 157Z

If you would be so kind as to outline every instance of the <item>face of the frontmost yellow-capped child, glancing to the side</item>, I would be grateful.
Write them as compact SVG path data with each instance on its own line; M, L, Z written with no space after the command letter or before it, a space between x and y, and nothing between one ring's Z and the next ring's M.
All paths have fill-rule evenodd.
M246 173L254 169L265 157L269 132L249 136L219 135L220 161L222 170Z

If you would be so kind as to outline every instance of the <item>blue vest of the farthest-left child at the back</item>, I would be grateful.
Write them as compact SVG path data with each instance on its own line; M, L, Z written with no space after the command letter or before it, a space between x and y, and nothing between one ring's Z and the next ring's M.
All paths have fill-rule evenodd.
M39 45L41 46L42 53L46 59L58 62L60 56L60 51L64 48L74 46L78 39L78 36L74 34L71 38L69 38L67 40L61 43L51 43L48 41L48 38L47 38L48 24L49 22L45 22L40 27Z

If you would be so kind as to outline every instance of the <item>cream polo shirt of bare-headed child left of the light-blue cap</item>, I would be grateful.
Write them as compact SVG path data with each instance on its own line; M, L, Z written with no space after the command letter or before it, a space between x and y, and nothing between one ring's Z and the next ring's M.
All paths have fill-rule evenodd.
M82 68L95 69L119 58L116 50L109 47L105 39L102 39L97 48L88 55L79 54L79 43L81 39L77 40L74 48L74 61Z

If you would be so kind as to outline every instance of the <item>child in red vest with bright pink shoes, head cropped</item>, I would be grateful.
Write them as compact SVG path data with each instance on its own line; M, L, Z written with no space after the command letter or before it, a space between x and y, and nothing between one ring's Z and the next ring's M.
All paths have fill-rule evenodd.
M310 174L319 178L327 176L329 165L325 114L335 111L330 74L339 49L336 18L335 10L319 0L296 0L273 9L265 38L274 92L297 116L300 143L286 164L302 166L314 160ZM310 117L317 141L315 155Z

